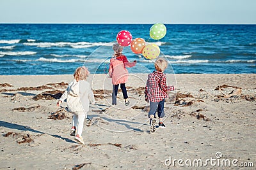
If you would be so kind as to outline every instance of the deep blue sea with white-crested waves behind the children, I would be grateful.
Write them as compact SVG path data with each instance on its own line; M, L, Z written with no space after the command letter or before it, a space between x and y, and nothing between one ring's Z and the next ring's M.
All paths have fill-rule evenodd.
M122 30L159 46L168 60L165 73L256 73L256 25L164 24L155 40L153 24L0 24L1 75L73 74L79 66L108 73L112 44ZM154 71L154 60L124 47L129 73Z

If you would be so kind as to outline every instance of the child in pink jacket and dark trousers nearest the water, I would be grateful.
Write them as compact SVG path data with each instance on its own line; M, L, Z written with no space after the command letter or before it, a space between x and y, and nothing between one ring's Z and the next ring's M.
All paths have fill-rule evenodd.
M126 67L135 66L136 60L134 60L134 62L129 62L127 57L122 54L123 46L120 46L118 43L114 43L112 48L115 52L112 59L110 59L109 64L109 76L112 78L113 83L112 104L116 105L116 96L120 84L124 96L125 106L128 106L130 102L128 101L125 83L128 80L129 73Z

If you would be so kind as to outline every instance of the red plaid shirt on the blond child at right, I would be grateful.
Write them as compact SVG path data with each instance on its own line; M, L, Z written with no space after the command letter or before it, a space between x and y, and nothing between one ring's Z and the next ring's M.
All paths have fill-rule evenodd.
M172 90L174 90L174 87L166 84L166 74L161 71L154 71L148 74L145 87L145 98L147 101L163 101L168 96L167 92Z

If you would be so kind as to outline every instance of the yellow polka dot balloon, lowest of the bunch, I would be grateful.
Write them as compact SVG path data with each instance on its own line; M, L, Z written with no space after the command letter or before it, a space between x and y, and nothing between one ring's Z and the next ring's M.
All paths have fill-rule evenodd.
M150 60L156 59L160 55L160 48L155 44L146 45L143 48L142 55L146 59L150 59Z

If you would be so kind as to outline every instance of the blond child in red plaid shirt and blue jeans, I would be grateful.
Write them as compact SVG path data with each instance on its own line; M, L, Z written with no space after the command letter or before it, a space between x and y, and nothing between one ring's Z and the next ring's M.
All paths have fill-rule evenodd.
M156 70L148 74L147 85L145 87L145 100L150 103L148 117L150 118L150 132L156 131L156 111L159 117L159 127L164 128L164 101L168 97L167 92L174 90L173 86L166 84L166 74L168 62L163 58L158 58L155 62Z

